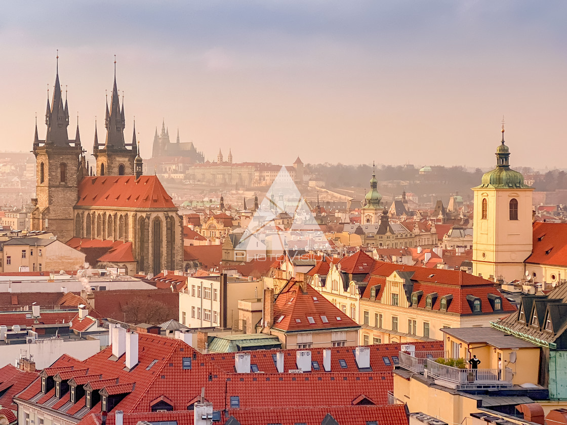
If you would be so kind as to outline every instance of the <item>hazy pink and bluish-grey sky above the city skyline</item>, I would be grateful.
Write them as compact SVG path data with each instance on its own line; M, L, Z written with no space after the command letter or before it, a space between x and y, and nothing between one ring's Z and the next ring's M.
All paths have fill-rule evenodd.
M0 150L31 150L46 89L68 86L92 150L113 60L151 155L175 139L235 162L565 167L565 1L3 2Z

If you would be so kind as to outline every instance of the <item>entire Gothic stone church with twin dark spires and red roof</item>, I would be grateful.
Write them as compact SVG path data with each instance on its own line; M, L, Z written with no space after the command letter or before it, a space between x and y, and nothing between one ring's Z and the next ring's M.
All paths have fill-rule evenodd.
M69 107L62 99L58 69L45 124L45 140L39 139L37 122L33 140L37 181L31 230L53 232L84 252L92 267L154 275L181 270L183 222L158 177L142 175L135 128L132 142L125 141L116 65L104 143L99 143L95 126L95 172L86 162L79 125L75 139L67 134Z

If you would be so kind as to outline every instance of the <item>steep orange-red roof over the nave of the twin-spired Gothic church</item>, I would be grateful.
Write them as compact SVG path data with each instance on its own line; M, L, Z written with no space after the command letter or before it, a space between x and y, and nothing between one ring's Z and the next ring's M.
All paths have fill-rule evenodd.
M141 176L137 180L134 176L84 177L76 205L177 210L157 176Z

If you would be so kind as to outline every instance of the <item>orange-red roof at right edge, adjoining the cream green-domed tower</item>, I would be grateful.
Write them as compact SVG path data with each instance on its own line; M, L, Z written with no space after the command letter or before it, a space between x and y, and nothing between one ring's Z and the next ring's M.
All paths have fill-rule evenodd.
M533 248L526 263L567 266L567 223L535 222Z

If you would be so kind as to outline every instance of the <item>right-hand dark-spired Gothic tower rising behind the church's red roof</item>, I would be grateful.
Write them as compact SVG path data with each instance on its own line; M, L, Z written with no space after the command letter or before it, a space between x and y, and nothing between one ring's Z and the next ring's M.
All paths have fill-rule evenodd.
M96 175L132 176L134 175L134 159L138 154L136 129L134 128L132 143L126 143L124 141L124 128L126 126L124 98L122 98L122 107L120 107L120 98L116 86L116 56L114 61L114 84L110 103L110 108L108 108L107 100L104 119L107 136L104 145L99 144L98 137L95 134L95 142L92 147L92 155L96 158Z

